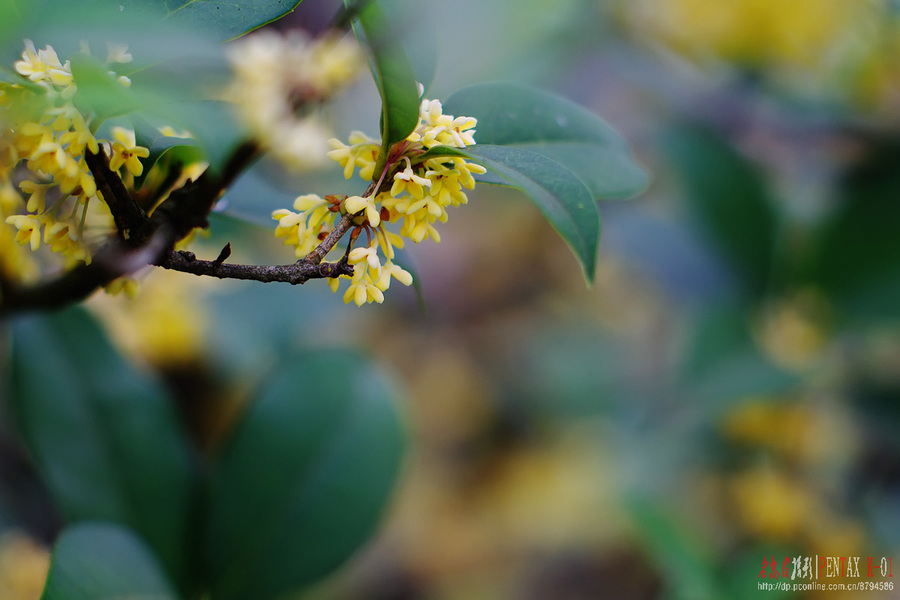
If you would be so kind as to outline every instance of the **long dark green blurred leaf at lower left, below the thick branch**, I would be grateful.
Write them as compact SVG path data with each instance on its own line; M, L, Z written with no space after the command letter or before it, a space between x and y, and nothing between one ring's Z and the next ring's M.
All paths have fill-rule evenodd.
M133 528L180 581L195 473L162 386L82 310L22 318L12 333L12 413L66 520Z

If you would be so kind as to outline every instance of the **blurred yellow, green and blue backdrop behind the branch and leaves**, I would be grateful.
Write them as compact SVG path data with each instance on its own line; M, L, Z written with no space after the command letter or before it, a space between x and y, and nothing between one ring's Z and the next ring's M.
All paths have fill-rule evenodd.
M897 3L419 5L429 97L556 92L652 174L601 205L591 289L536 208L480 186L440 245L409 248L419 289L380 306L166 272L89 303L206 407L188 417L211 444L284 344L362 348L394 373L412 441L390 514L303 598L740 599L771 581L765 557L900 558ZM336 11L307 0L278 26ZM377 98L361 77L338 137L377 134ZM236 261L286 262L269 213L359 189L336 166L261 164L225 198L260 226L222 215L198 255L231 241ZM0 597L37 598L59 517L8 431L0 456Z

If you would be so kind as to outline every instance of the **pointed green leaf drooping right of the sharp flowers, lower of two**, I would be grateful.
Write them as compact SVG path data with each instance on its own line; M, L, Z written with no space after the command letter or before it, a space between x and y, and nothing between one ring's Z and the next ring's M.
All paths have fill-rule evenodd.
M477 144L465 153L534 201L592 283L600 243L600 211L587 186L560 163L525 148Z

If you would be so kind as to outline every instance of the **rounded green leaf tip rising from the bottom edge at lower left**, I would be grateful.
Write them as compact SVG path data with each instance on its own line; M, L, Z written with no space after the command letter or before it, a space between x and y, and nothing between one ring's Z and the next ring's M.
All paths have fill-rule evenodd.
M63 530L41 600L175 600L178 596L143 541L111 523Z

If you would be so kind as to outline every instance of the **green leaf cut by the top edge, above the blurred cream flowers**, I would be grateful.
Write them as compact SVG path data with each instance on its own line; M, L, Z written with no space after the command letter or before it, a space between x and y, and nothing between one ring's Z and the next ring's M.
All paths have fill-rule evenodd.
M115 0L118 1L118 0ZM221 40L231 40L277 21L294 11L302 0L168 0L169 19L202 27ZM130 0L156 3L158 0Z

